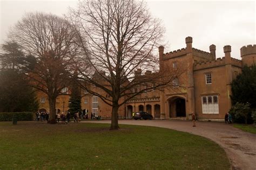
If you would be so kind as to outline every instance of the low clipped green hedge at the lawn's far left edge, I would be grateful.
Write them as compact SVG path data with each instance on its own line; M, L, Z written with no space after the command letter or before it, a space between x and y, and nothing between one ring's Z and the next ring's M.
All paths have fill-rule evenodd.
M33 120L33 112L2 112L0 113L0 121L12 121L16 117L18 121Z

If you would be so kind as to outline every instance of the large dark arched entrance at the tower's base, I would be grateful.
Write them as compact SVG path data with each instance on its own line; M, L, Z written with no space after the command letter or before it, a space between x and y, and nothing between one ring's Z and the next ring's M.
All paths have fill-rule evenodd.
M170 118L186 117L186 100L181 97L169 99Z

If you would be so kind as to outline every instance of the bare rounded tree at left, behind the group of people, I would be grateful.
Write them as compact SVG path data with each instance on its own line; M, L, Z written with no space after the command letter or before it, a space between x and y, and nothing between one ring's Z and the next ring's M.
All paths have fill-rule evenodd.
M56 123L56 98L70 81L70 66L78 53L76 37L66 19L38 12L26 13L10 33L29 55L25 75L30 85L48 95L50 123Z

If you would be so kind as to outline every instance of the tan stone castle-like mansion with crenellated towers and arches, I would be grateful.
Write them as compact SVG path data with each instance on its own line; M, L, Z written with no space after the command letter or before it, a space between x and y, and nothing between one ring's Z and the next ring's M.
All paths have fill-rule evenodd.
M132 112L145 111L154 119L191 119L190 113L196 113L197 119L223 120L231 108L231 82L244 65L256 64L256 45L243 46L240 49L241 60L231 57L231 46L224 46L225 57L216 58L215 45L210 52L192 47L192 37L186 37L186 47L164 53L159 47L160 70L165 67L186 66L186 71L173 80L173 87L163 91L150 91L139 94L119 108L120 118L131 118ZM137 74L142 74L138 69ZM147 72L146 72L147 73ZM97 87L92 87L99 90ZM63 89L56 101L57 112L68 111L70 90ZM46 94L38 92L39 108L49 111ZM96 96L81 90L82 110L111 117L111 107Z

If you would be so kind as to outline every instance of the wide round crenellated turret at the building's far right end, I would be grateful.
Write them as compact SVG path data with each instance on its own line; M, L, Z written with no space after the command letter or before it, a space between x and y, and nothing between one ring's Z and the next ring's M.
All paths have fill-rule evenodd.
M251 66L256 64L256 44L242 46L240 49L242 65Z

